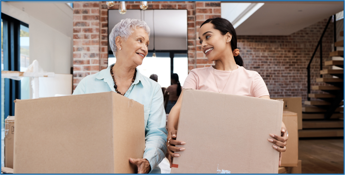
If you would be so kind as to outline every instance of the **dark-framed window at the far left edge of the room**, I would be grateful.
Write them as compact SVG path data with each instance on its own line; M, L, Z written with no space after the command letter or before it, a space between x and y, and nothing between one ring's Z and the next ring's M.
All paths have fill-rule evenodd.
M25 71L29 66L29 25L1 13L1 70ZM26 89L21 85L26 84ZM14 116L14 100L29 98L29 79L1 79L1 166L4 166L4 120ZM21 96L22 95L22 96Z

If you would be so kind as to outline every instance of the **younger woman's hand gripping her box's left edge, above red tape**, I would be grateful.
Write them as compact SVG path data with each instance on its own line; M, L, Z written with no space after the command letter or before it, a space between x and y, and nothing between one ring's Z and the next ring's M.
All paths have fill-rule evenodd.
M168 147L168 154L169 154L169 162L170 162L170 168L172 165L172 158L174 157L180 157L180 154L174 153L174 152L179 152L183 151L186 148L183 147L176 147L175 145L184 145L186 144L183 141L176 140L176 135L177 135L177 130L172 130L171 132L168 133L167 137L167 147Z

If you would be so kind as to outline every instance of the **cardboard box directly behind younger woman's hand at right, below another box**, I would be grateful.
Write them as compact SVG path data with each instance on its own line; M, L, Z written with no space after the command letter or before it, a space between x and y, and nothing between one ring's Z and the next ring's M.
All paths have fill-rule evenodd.
M283 153L280 166L297 166L298 164L298 129L297 113L283 111L283 122L289 133L286 151Z

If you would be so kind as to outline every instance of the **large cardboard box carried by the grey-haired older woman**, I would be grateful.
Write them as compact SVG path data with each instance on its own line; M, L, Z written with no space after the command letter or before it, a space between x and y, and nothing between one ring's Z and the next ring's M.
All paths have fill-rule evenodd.
M14 173L135 173L144 105L115 92L15 101Z

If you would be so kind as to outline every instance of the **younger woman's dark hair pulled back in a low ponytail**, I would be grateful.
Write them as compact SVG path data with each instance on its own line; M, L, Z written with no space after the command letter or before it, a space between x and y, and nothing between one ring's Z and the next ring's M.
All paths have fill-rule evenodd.
M229 32L232 35L231 38L231 51L237 49L237 36L236 36L236 31L234 26L231 24L230 21L228 21L227 19L224 18L210 18L208 20L206 20L201 26L203 26L206 23L211 23L213 24L213 28L216 30L219 30L221 35L225 35L227 32ZM201 28L200 26L200 28ZM238 66L243 66L243 59L241 56L236 56L235 58L235 62Z

